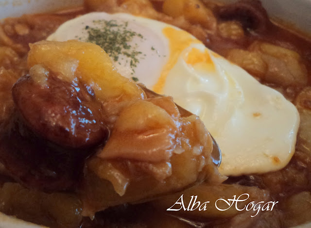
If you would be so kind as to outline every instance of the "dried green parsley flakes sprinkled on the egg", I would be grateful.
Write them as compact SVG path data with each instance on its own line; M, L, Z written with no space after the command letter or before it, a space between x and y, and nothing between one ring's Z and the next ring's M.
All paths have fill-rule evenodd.
M93 23L96 25L95 28L85 27L88 33L86 41L99 45L115 62L118 62L121 54L130 58L132 74L135 73L134 68L137 67L139 59L143 58L143 56L141 56L141 51L137 51L138 45L130 45L130 42L135 36L141 39L143 39L143 36L128 29L128 22L117 23L116 20L94 20Z

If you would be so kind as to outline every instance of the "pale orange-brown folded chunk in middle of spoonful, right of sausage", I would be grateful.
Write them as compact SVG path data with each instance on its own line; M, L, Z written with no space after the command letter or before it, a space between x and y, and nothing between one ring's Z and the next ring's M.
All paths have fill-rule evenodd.
M179 133L174 122L179 121L179 112L172 98L169 99L171 102L167 102L168 105L175 109L173 114L147 100L138 100L125 107L109 141L97 156L102 159L122 158L145 162L169 161L176 145L176 134Z

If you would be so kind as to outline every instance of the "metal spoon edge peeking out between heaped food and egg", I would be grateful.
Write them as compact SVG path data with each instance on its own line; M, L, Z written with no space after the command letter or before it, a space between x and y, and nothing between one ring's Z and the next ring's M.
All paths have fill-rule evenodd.
M142 90L145 92L145 94L147 95L148 98L164 97L164 95L159 95L159 94L155 93L154 91L148 89L143 83L138 83L138 86L140 88L142 88ZM181 116L187 117L187 116L193 115L191 112L189 112L188 110L179 106L178 104L175 103L175 105L177 106ZM220 163L222 162L222 152L221 152L218 144L216 143L215 139L213 138L213 136L210 133L209 133L209 135L213 141L213 149L211 152L211 158L213 160L213 163L219 167Z

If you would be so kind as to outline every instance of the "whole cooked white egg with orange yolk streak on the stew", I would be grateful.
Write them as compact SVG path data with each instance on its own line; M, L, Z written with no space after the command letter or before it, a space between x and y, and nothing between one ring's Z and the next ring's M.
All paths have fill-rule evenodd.
M118 40L124 34L125 44ZM128 14L90 13L48 39L111 40L104 49L123 76L200 116L222 150L224 175L275 171L293 156L299 126L294 105L185 31Z

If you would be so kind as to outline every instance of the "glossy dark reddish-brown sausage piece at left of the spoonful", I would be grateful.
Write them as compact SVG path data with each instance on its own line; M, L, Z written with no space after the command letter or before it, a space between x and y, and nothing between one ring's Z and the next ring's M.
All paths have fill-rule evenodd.
M51 72L45 80L40 83L26 75L13 86L13 99L25 124L62 147L104 143L109 130L94 91L80 82L63 81Z

